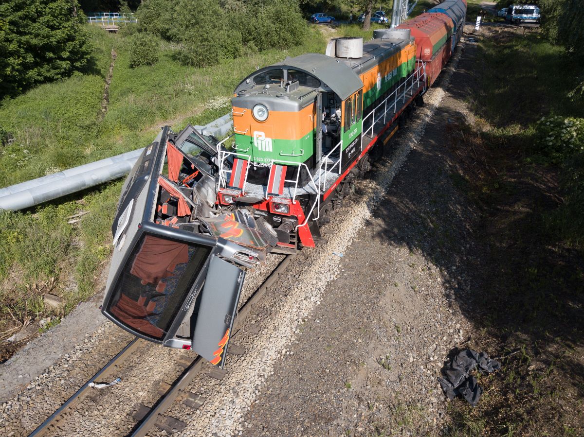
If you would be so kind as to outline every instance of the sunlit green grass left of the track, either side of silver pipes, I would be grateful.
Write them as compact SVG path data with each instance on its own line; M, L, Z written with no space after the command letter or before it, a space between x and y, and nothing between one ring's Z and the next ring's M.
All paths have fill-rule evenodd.
M322 53L325 47L322 34L311 27L309 37L290 50L249 53L199 69L179 65L172 45L161 42L157 64L131 69L126 36L89 31L94 64L85 74L2 102L0 128L13 140L0 146L0 187L144 147L165 121L175 130L206 124L229 111L235 86L257 67ZM117 60L109 106L99 121L112 49ZM95 292L111 253L110 226L121 184L114 181L31 211L0 212L0 333L16 323L11 312L18 320L50 313L42 300L50 278L57 281L51 292L65 298L65 313ZM79 212L86 214L68 223Z

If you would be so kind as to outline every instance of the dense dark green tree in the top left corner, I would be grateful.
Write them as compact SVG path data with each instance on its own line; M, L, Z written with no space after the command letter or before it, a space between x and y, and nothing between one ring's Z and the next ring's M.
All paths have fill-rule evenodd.
M91 44L77 0L3 0L0 98L83 69Z

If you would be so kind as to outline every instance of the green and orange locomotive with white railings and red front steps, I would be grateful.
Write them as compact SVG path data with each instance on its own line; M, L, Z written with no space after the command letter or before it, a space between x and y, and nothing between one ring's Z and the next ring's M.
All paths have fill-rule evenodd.
M235 141L223 153L234 157L235 177L219 198L253 204L277 232L274 251L314 247L319 225L368 168L367 153L425 89L409 30L377 34L366 44L332 40L327 54L259 69L235 89ZM373 114L380 103L391 105L385 120Z

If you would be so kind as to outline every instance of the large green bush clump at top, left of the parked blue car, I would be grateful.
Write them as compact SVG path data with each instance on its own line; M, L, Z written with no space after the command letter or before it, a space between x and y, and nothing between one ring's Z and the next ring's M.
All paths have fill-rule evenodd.
M182 64L207 67L269 48L302 44L308 33L297 0L148 0L136 12L141 32L178 43Z

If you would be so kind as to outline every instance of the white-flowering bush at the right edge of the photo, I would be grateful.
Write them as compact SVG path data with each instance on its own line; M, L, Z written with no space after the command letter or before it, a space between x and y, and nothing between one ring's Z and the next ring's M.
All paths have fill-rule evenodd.
M584 118L542 117L535 128L538 153L554 163L584 152Z

